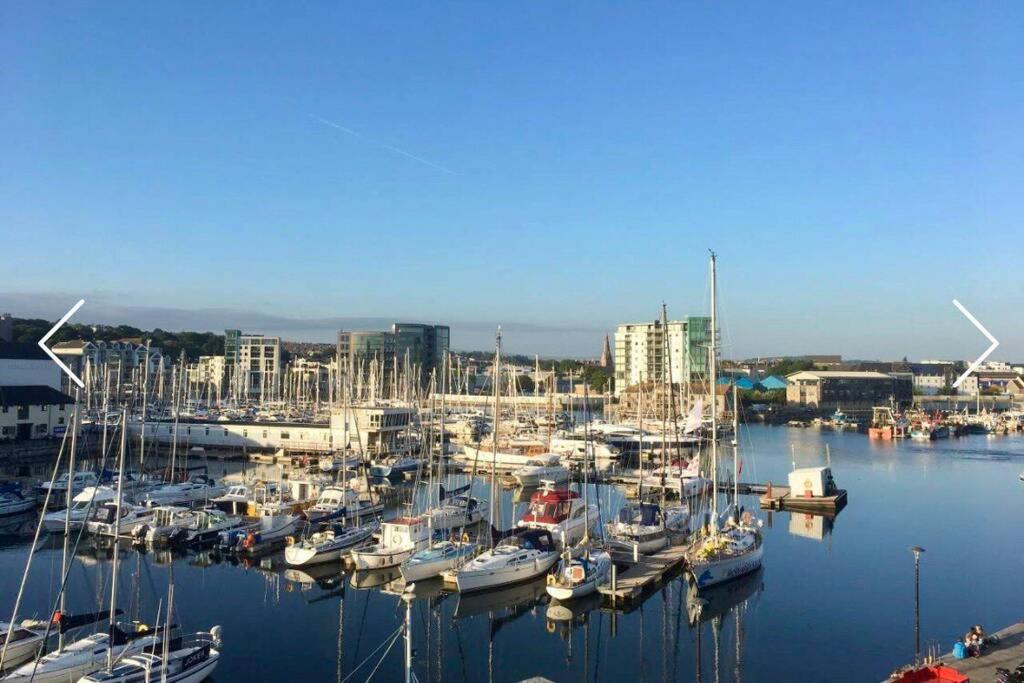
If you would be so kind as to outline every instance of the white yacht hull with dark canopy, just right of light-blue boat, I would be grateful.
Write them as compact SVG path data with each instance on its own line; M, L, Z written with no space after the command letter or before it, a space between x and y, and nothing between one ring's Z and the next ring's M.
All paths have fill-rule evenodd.
M507 586L546 573L558 561L558 547L546 528L522 528L454 571L460 593Z

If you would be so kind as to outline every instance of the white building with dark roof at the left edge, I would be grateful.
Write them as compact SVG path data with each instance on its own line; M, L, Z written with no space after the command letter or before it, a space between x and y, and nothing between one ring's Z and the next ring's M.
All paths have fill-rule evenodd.
M36 344L0 341L0 441L49 438L67 429L75 399Z

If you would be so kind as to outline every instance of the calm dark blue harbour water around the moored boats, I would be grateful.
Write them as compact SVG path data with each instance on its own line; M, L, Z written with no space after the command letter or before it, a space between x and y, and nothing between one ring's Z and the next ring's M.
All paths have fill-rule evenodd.
M995 630L1024 615L1024 438L881 443L754 426L744 441L748 481L783 482L794 461L823 464L828 444L850 504L833 522L761 513L764 570L709 595L699 627L691 626L680 579L628 613L591 602L557 623L546 616L543 583L469 598L420 585L413 607L419 679L878 681L913 656L913 545L927 549L923 647L948 650L969 625ZM622 501L607 487L598 496L605 512ZM521 506L509 492L503 503L506 520ZM33 527L0 521L6 620ZM52 604L59 547L54 540L38 553L23 614L47 613ZM378 665L377 680L402 675L401 641L386 654L382 647L404 616L386 585L396 574L355 583L304 575L287 570L280 554L244 566L209 554L172 562L166 553L127 551L121 566L119 601L129 613L155 617L173 566L177 621L191 630L223 626L217 681L365 680ZM95 608L109 599L109 552L80 550L70 608Z

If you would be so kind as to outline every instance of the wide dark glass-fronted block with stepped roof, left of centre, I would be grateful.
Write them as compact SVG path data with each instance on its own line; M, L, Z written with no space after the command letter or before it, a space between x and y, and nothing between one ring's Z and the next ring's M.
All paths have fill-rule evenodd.
M338 367L343 373L369 372L376 361L385 377L397 367L419 371L421 384L440 372L449 351L451 331L443 325L395 323L390 331L338 331Z

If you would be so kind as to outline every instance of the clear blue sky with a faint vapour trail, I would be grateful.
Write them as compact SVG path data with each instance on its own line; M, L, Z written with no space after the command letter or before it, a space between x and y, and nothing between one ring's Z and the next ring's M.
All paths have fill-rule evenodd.
M956 297L1024 358L1019 2L5 2L0 50L15 314L594 355L714 248L735 355L973 357Z

